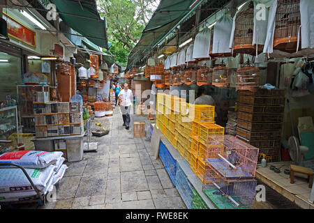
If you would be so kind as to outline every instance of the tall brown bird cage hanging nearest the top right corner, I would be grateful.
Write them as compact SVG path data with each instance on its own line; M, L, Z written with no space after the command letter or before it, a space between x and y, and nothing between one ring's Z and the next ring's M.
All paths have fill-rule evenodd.
M300 0L278 0L274 31L274 49L296 52L301 26ZM306 29L302 27L302 29Z

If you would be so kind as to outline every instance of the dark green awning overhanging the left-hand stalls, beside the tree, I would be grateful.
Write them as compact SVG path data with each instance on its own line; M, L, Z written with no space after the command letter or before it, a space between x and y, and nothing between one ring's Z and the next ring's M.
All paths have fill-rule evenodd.
M92 43L108 49L107 25L98 14L96 1L53 0L61 19Z

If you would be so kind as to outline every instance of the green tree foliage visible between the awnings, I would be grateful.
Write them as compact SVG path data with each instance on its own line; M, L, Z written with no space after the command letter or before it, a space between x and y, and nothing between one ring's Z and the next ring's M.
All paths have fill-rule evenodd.
M110 52L115 61L126 66L128 54L140 40L159 0L98 0L100 15L107 20Z

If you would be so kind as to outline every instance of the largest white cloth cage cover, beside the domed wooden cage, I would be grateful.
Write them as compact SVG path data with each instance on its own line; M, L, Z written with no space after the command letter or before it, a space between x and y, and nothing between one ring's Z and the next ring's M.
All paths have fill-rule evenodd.
M230 36L232 31L232 17L224 15L214 25L213 33L213 54L231 53L229 49Z

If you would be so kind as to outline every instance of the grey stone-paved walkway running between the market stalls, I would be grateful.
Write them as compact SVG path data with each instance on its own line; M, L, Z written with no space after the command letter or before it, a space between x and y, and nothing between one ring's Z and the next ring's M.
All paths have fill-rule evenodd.
M28 208L186 208L163 163L152 156L146 116L132 115L129 130L122 126L119 107L114 116L95 121L110 129L106 136L91 137L99 142L98 151L67 163L57 202ZM147 122L147 137L133 138L133 121Z

